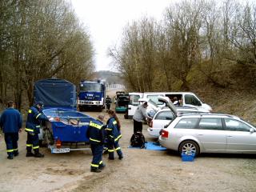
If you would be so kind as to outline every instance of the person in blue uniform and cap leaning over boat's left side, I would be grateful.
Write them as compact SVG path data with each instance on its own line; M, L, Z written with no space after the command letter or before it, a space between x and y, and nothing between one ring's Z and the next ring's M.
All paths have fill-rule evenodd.
M39 152L39 138L40 125L42 121L49 121L46 115L42 114L43 102L37 102L34 106L30 107L27 114L26 128L26 157L43 158L44 154ZM32 148L34 154L32 153Z

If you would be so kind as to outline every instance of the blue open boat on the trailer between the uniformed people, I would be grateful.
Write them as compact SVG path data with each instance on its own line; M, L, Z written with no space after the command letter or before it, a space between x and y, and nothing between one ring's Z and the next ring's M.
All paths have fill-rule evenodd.
M42 112L46 116L59 119L59 121L50 122L54 139L59 139L61 142L89 142L86 131L89 128L90 121L95 120L94 118L76 110L60 108L46 109ZM77 123L72 124L72 120Z

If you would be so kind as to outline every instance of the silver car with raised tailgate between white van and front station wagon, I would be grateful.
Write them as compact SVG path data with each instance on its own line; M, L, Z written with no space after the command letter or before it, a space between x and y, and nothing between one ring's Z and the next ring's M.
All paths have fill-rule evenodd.
M199 110L194 107L177 107L177 112L178 115L210 113L209 110ZM160 136L160 131L172 120L174 120L174 114L169 108L165 107L162 110L158 110L152 121L149 122L149 128L147 131L153 138L158 138Z

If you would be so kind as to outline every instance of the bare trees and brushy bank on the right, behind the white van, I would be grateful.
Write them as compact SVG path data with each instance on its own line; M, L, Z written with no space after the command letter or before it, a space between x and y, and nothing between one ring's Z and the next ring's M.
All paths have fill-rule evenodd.
M216 110L244 116L256 108L254 1L178 2L160 22L127 23L119 45L109 54L128 91L193 91Z

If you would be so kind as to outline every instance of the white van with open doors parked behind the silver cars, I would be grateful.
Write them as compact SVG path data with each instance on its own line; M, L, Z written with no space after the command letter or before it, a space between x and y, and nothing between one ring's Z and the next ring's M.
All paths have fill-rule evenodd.
M203 103L197 95L191 92L145 92L145 93L130 93L130 102L128 106L128 118L132 118L134 116L135 110L138 107L138 99L139 98L150 98L153 102L155 102L158 106L165 106L163 102L158 101L158 96L168 97L170 101L174 101L174 97L178 98L178 100L182 101L180 106L190 106L196 107L198 110L209 110L211 111L211 106Z

